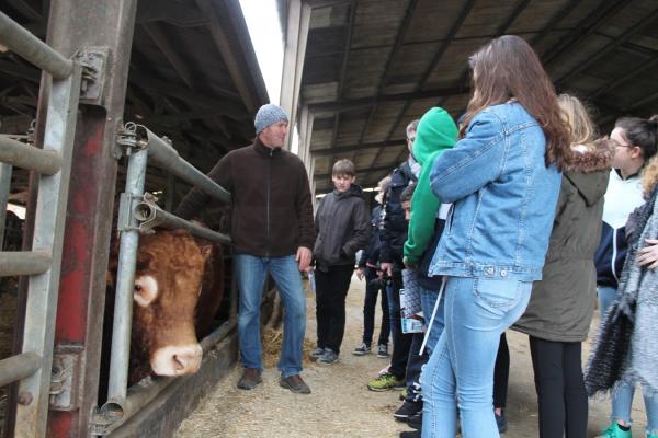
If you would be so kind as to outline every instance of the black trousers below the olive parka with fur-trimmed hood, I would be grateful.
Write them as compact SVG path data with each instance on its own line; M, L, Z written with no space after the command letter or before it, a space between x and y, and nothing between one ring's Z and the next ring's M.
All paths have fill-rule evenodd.
M580 343L530 336L530 353L540 406L540 437L585 438L588 406Z

